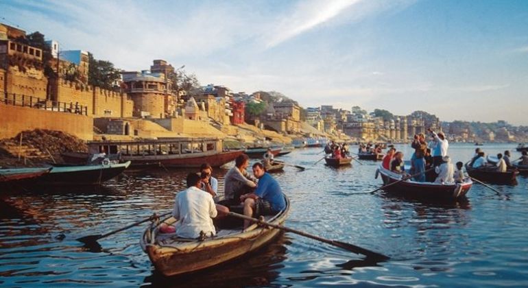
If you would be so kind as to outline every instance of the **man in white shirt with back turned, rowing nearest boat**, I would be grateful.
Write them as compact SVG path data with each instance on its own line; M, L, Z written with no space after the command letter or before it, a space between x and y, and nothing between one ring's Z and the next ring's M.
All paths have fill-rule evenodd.
M187 190L176 194L172 210L172 216L178 219L176 235L195 239L203 233L206 237L213 237L216 230L212 218L218 215L213 196L200 189L202 178L196 173L187 175L187 187Z

